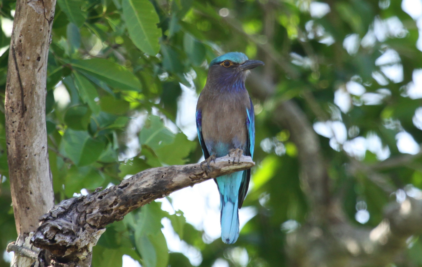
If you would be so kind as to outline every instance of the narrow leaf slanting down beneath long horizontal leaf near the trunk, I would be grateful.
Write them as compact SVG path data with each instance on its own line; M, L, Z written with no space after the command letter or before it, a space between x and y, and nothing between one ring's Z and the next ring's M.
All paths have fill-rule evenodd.
M75 85L78 89L79 95L81 96L84 103L87 103L91 111L95 114L100 113L100 105L98 105L95 99L98 99L97 89L91 84L91 82L78 72L73 72L75 76Z

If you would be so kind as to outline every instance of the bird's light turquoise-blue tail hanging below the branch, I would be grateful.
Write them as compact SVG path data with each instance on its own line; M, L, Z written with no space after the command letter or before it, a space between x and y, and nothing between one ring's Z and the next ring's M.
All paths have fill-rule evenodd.
M226 244L233 244L239 237L238 195L242 173L231 173L218 177L221 206L221 239Z

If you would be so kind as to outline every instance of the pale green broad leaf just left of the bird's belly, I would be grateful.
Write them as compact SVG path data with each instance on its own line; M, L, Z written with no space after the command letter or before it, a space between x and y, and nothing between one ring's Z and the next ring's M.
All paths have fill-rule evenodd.
M147 145L152 149L158 148L161 144L173 143L174 134L164 126L160 117L151 115L145 121L145 125L139 133L141 145Z

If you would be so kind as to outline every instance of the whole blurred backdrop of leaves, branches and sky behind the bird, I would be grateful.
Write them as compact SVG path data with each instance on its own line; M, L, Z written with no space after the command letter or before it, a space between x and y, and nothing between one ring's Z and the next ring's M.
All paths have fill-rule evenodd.
M15 2L1 3L4 102ZM241 51L266 64L247 81L257 167L237 243L219 239L208 181L109 225L92 266L422 266L420 31L421 0L57 0L46 98L56 202L202 160L194 111L208 63Z

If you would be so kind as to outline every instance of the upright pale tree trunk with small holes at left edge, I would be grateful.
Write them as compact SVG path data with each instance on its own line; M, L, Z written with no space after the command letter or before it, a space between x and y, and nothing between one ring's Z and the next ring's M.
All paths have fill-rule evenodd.
M12 204L23 245L38 218L54 205L47 152L46 73L55 0L18 0L5 93L5 126ZM31 261L12 266L29 266ZM27 265L29 264L29 265Z

